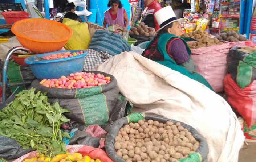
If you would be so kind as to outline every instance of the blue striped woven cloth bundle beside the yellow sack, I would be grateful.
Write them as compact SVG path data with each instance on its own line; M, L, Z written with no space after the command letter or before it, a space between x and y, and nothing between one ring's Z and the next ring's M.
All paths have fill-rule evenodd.
M96 30L88 49L98 52L107 51L110 55L117 55L124 51L131 51L131 46L117 34L111 34L106 30Z

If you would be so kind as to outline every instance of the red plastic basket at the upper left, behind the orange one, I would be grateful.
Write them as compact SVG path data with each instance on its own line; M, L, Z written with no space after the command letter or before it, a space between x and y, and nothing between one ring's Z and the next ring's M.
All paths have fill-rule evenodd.
M7 11L2 12L1 15L4 16L4 19L7 24L12 24L13 22L26 19L30 16L29 13L24 11Z

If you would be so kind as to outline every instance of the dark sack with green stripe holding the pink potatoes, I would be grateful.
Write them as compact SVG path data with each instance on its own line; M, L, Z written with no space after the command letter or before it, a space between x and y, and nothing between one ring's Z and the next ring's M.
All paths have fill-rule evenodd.
M111 82L91 88L61 89L42 86L39 80L34 80L31 87L37 91L47 92L50 103L58 102L61 107L69 109L65 116L85 126L103 125L114 113L118 98L117 80L113 75L100 71L86 71L110 76Z

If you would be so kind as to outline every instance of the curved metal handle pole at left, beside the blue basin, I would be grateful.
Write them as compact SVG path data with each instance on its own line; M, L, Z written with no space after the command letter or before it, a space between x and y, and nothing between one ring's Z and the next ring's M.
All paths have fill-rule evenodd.
M7 68L8 68L8 63L9 63L9 59L12 55L12 53L14 53L15 51L25 51L27 53L30 52L29 49L25 48L25 47L13 47L11 50L8 51L8 53L5 55L4 58L4 67L3 67L3 102L7 99Z

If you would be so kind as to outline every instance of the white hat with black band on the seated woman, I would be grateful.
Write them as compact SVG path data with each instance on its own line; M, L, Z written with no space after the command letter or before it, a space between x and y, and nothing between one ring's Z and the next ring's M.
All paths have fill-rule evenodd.
M160 26L160 29L157 30L157 32L174 21L179 21L180 23L184 21L184 18L177 19L176 14L172 10L171 6L166 6L157 11L155 13L155 19Z

